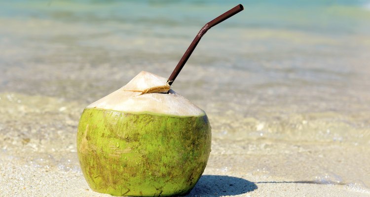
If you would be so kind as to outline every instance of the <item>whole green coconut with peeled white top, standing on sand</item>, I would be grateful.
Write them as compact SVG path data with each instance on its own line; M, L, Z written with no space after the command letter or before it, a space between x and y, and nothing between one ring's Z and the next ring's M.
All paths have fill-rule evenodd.
M113 196L184 195L210 152L206 113L145 71L88 105L78 125L85 179L93 191Z

